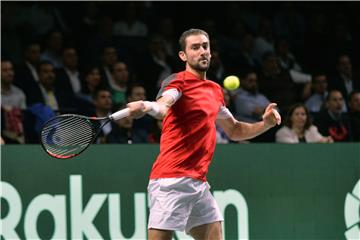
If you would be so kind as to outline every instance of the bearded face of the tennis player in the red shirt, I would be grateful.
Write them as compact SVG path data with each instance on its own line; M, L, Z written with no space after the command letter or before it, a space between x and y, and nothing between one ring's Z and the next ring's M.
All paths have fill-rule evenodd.
M210 42L202 34L191 35L186 38L186 49L181 57L192 69L205 72L210 66Z

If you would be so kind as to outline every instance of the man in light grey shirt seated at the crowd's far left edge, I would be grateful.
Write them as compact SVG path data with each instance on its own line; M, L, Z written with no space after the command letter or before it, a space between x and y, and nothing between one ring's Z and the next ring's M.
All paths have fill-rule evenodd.
M9 60L1 60L1 136L6 143L25 143L22 110L24 92L14 86L14 69Z

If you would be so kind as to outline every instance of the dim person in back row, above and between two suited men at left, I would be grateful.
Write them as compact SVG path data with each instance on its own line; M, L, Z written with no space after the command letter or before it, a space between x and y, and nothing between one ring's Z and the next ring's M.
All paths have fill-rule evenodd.
M59 30L51 30L46 36L46 47L40 59L51 62L54 68L61 68L63 66L61 57L62 47L62 32Z

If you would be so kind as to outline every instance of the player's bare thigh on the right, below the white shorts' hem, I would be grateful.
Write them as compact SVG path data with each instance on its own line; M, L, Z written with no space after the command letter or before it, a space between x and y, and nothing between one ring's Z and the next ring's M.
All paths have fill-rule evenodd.
M196 240L221 240L221 222L213 222L193 227L190 235Z

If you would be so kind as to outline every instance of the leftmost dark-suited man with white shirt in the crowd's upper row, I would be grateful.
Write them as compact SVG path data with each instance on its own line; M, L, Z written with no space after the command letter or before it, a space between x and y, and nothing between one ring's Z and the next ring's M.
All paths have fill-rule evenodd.
M41 46L37 42L30 42L25 47L24 62L16 68L15 84L21 89L36 86L39 82L37 66L40 62Z

